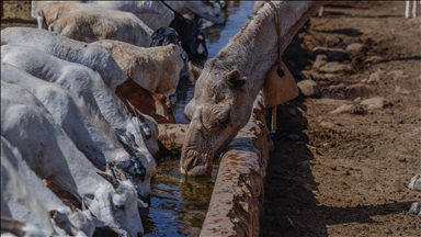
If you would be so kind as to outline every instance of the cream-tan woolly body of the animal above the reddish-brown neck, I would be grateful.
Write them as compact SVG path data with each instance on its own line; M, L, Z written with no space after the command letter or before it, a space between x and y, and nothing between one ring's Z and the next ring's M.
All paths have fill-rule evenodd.
M180 71L184 67L180 45L145 48L110 40L92 44L109 49L123 71L143 88L166 97L175 92Z

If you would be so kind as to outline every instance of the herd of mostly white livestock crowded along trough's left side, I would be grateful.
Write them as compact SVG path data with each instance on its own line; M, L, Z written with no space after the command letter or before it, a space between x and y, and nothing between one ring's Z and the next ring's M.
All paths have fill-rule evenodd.
M198 19L224 23L223 5L33 1L38 29L1 31L2 233L144 235L158 123L207 59Z

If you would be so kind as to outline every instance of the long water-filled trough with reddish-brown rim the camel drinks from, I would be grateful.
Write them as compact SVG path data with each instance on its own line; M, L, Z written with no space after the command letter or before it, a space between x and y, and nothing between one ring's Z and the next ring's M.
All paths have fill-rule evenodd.
M214 57L238 32L252 7L251 1L235 2L228 8L230 15L223 29L206 30L209 57ZM190 83L179 86L173 98L178 124L159 127L161 144L175 157L189 126L183 110L193 95L192 90ZM150 232L146 236L258 236L263 182L273 147L265 116L259 95L249 123L223 153L219 167L215 165L212 177L182 177L180 160L166 158L161 166L164 169L162 176L152 182L151 208L144 214L148 216L145 227Z

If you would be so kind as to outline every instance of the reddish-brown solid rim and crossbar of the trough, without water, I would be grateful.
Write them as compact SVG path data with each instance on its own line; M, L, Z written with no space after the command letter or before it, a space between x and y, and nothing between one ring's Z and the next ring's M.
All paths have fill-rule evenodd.
M187 127L160 124L161 144L167 149L180 148ZM266 110L259 94L249 123L223 154L201 236L259 236L264 178L272 149Z

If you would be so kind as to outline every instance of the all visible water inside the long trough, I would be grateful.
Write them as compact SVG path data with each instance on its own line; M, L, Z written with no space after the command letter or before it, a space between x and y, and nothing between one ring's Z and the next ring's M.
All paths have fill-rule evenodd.
M223 48L246 22L253 1L226 1L227 22L224 26L204 30L209 58ZM189 124L184 106L193 97L194 84L181 81L174 98L173 112L177 123ZM180 174L180 154L162 158L158 174L151 183L151 205L141 213L145 236L198 236L206 216L214 188L217 165L212 176L185 178Z

